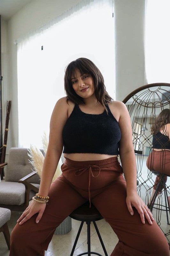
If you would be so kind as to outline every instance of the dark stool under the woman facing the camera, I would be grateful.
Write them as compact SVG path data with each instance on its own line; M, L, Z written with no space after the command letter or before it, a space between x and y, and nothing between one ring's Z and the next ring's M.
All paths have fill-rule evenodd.
M105 248L105 246L103 244L103 241L101 239L99 229L98 229L98 227L96 225L96 222L95 222L97 220L102 220L103 217L101 216L100 212L95 208L95 206L93 204L91 204L91 208L89 208L89 202L86 202L85 204L81 205L76 210L74 210L69 216L74 220L81 221L81 224L80 224L80 227L78 229L77 236L76 236L76 240L74 242L74 245L73 245L70 256L73 256L73 253L74 253L74 250L76 248L77 241L78 241L78 237L80 236L80 232L81 232L81 229L83 227L83 223L85 221L86 221L86 224L87 224L87 246L88 246L88 251L84 252L84 253L80 253L77 256L81 256L81 255L85 255L85 254L90 256L91 253L95 254L95 255L102 256L100 253L91 252L91 248L90 248L90 223L91 223L91 221L93 222L94 227L96 229L96 232L99 236L99 240L100 240L101 246L103 248L103 251L105 253L105 256L108 256L108 254L106 252L106 248Z

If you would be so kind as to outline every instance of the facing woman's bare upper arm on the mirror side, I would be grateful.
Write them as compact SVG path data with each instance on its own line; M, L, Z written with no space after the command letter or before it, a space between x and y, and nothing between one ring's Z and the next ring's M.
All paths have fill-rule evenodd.
M123 154L128 151L134 151L132 143L132 126L126 105L121 101L117 101L116 105L120 115L118 123L121 130L119 151L120 154Z

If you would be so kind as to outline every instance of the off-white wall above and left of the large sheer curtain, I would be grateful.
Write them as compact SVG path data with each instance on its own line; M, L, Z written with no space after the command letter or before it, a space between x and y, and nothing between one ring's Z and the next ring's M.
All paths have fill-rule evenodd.
M9 148L18 147L17 45L14 44L14 41L55 19L80 1L33 0L7 22L2 20L3 116L6 109L6 100L12 100L7 154ZM4 126L5 120L3 118L3 128Z

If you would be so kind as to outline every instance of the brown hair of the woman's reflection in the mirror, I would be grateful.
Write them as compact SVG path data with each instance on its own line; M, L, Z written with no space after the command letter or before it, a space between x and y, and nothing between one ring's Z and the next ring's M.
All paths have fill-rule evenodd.
M165 124L170 123L170 109L166 108L163 109L160 113L159 116L157 116L155 120L155 124L153 124L151 133L154 135L160 131L162 128L164 130Z

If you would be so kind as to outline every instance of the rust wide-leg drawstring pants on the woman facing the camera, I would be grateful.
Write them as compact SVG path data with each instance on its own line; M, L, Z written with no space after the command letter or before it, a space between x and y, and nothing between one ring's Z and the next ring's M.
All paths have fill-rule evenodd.
M44 255L55 228L86 201L95 205L119 238L111 256L169 256L168 243L156 222L149 225L146 220L142 224L135 208L134 215L130 215L126 205L126 182L117 157L97 161L66 158L62 175L51 184L49 197L38 224L35 214L23 225L14 227L10 256Z

